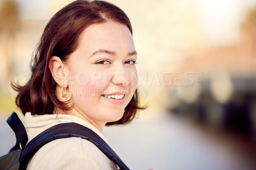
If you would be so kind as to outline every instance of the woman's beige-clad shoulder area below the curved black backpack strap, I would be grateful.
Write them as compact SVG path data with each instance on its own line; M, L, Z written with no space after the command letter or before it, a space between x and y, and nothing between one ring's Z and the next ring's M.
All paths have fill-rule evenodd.
M117 169L90 141L81 138L56 139L33 156L29 169Z

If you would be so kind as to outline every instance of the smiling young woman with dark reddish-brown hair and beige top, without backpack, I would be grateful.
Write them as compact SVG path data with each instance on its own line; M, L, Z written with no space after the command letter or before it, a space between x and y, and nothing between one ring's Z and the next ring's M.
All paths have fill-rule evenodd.
M56 124L76 122L104 141L105 125L127 124L136 115L137 53L131 22L104 1L74 1L46 25L31 64L31 78L16 104L25 115L28 140ZM108 141L106 141L108 143ZM56 139L29 161L28 169L117 169L81 138Z

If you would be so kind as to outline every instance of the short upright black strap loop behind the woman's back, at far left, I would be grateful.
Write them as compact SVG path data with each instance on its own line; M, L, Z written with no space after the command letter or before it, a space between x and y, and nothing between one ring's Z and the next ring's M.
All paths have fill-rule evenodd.
M20 145L22 148L24 148L28 142L28 134L17 113L13 111L12 115L10 115L6 122L8 125L10 125L13 132L15 132L16 136L16 144L15 146L13 146L10 152L12 152L13 150L21 149Z

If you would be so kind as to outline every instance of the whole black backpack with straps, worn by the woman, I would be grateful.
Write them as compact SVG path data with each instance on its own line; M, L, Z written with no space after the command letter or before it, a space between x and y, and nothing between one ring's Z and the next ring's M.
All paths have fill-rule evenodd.
M44 132L38 134L29 143L26 129L18 115L13 112L6 121L15 132L16 144L6 155L0 157L0 169L26 169L29 160L45 144L55 139L78 137L92 142L99 150L122 170L129 169L124 162L116 155L112 148L95 132L83 125L76 123L63 123L54 125Z

